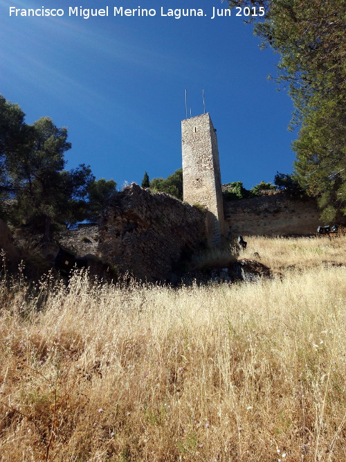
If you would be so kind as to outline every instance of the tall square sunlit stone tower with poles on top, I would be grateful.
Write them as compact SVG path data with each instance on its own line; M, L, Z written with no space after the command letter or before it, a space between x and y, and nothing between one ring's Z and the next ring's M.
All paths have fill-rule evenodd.
M211 246L219 245L224 235L224 205L216 130L208 113L181 122L181 143L183 199L208 209L208 241Z

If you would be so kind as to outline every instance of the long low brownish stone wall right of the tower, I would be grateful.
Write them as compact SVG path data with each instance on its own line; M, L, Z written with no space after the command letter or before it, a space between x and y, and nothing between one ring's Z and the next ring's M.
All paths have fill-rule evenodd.
M316 200L286 193L224 202L229 236L289 236L316 233L328 224L319 219ZM345 222L345 217L337 220Z

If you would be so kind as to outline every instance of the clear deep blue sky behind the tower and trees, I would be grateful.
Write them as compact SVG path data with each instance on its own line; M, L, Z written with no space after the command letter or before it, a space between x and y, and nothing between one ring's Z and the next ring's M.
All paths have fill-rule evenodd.
M10 17L9 8L62 8L63 17ZM109 17L69 17L69 6ZM155 17L113 17L113 7L153 8ZM203 8L205 17L161 17L168 8ZM68 127L66 168L89 164L97 178L140 184L181 167L181 119L206 111L217 128L221 179L246 188L290 173L287 125L293 106L277 91L278 56L260 51L245 17L210 19L219 0L0 0L0 93L26 122L49 116Z

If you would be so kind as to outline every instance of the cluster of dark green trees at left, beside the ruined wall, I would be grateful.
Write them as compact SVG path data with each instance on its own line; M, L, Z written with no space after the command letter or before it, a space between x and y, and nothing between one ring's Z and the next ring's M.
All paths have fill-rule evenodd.
M48 117L28 125L19 105L0 96L0 199L14 199L0 212L44 242L60 226L94 220L116 190L113 180L95 181L89 166L66 170L70 148L66 128Z

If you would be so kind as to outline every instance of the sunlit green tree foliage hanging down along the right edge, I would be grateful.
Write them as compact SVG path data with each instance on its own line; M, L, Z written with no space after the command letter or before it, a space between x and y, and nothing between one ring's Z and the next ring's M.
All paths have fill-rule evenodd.
M255 34L280 53L277 82L288 85L300 125L295 177L318 197L325 220L346 213L345 0L229 0L262 7Z

